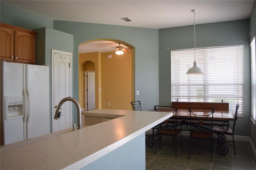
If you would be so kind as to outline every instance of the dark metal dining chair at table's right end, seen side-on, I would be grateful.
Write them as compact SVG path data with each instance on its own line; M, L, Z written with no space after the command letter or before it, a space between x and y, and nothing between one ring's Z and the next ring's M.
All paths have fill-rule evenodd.
M234 154L236 154L236 147L235 147L235 142L234 142L234 130L236 126L236 120L237 120L237 115L238 115L238 108L239 108L239 103L236 104L236 112L235 112L235 117L234 117L234 123L233 123L233 128L228 128L228 127L212 127L212 131L218 135L217 141L228 144L230 146L233 146L234 148ZM226 136L225 135L231 135L232 136L232 141L231 144L226 142ZM232 144L233 143L233 144ZM220 154L226 154L227 152L221 152L221 145L217 147L217 150Z

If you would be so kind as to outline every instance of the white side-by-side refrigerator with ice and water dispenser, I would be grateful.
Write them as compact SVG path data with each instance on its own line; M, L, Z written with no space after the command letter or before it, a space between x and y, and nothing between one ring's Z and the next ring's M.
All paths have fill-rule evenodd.
M1 62L1 144L50 133L49 67Z

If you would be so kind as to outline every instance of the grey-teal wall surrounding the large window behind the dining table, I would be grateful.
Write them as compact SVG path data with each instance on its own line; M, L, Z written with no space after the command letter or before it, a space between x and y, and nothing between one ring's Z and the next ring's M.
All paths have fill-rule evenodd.
M250 84L250 21L236 20L196 25L196 47L222 45L244 45L245 84ZM167 47L170 50L167 50ZM193 26L166 28L159 30L159 103L171 102L171 59L174 49L194 48ZM250 136L250 94L249 86L244 87L244 118L238 118L236 135Z

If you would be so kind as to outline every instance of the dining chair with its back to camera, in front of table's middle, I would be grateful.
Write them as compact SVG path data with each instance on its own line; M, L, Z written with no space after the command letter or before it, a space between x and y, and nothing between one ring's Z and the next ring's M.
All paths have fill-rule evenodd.
M210 141L210 152L212 161L212 150L213 150L213 114L214 108L212 107L189 107L190 112L190 143L189 143L189 156L191 145L197 146L198 148L204 149L203 146L198 146L192 143L192 139L209 140ZM207 123L207 124L206 124Z

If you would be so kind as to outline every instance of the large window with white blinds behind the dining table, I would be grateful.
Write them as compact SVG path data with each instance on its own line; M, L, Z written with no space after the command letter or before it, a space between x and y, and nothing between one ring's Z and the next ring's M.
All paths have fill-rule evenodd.
M204 75L186 75L194 49L171 51L171 99L186 102L229 103L244 116L244 45L196 48L197 66Z

